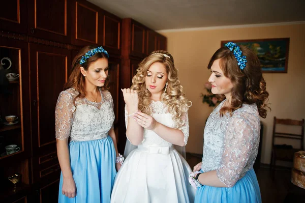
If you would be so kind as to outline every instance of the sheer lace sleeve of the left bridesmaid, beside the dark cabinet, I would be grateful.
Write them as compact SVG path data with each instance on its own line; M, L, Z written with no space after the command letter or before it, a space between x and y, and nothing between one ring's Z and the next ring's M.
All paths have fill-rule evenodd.
M64 140L70 136L74 109L72 95L66 91L61 92L55 107L55 136L57 139Z

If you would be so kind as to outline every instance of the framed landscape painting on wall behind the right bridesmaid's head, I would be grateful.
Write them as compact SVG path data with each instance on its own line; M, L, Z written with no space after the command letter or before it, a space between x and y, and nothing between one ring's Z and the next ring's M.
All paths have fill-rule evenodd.
M221 41L247 46L256 53L263 73L287 73L290 38Z

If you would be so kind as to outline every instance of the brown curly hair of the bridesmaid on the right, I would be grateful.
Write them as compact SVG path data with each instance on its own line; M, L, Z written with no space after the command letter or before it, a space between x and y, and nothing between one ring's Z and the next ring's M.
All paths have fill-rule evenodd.
M248 47L239 45L242 54L246 56L246 68L240 70L237 65L234 54L227 47L218 49L211 57L208 69L211 68L214 61L220 59L220 68L224 75L232 81L233 89L231 91L230 106L220 109L221 116L226 113L232 113L240 108L242 103L257 105L259 115L266 118L269 93L266 91L266 82L262 76L261 66L258 57Z

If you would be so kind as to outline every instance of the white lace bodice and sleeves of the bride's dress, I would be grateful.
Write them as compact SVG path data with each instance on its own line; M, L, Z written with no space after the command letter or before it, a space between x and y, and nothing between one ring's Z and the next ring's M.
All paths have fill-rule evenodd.
M151 101L151 108L153 108L153 113L151 116L159 123L172 128L174 126L174 121L172 119L172 114L168 112L167 106L161 101ZM125 122L126 126L128 124L128 112L125 106ZM189 117L188 113L182 114L182 120L185 124L179 128L179 130L184 133L184 142L187 144L189 138ZM154 131L144 129L144 139L142 141L142 145L144 147L171 147L172 143L165 141L161 137L159 137ZM127 137L128 139L128 137Z

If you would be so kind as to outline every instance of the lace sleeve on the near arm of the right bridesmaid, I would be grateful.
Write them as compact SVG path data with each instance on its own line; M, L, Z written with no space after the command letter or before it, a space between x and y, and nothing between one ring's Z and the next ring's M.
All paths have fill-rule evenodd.
M232 118L225 128L224 151L217 176L228 187L239 180L258 141L257 133L246 118Z

